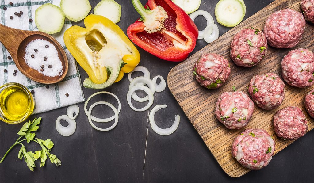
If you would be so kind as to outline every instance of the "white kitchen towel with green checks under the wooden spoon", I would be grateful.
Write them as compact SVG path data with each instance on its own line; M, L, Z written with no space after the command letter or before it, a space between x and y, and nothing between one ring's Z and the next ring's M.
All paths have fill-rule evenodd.
M38 1L38 0L0 0L1 1L1 24L15 29L38 30L35 25L35 10L45 3L52 3L59 6L61 0ZM9 3L13 2L13 6ZM3 7L7 9L4 10ZM21 17L14 15L14 12L23 12ZM10 19L13 16L13 19ZM53 16L53 15L51 15ZM33 19L33 22L29 22ZM37 83L25 77L21 72L16 76L14 70L18 70L14 61L8 59L9 53L0 42L0 85L10 82L23 84L27 89L34 90L35 109L33 114L46 112L60 107L76 104L85 101L81 78L73 56L66 48L63 41L64 32L72 26L70 20L66 20L61 32L53 34L57 41L63 46L68 56L68 74L60 83L48 85ZM14 42L12 43L14 44ZM2 55L1 55L2 54ZM6 69L5 73L3 70ZM34 72L37 72L34 70ZM68 94L68 97L66 96Z

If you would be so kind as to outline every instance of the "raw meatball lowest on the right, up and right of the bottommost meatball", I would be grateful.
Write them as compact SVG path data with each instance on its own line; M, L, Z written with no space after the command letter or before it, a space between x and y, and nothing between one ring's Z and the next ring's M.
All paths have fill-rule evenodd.
M295 140L307 131L307 121L304 113L298 107L287 107L277 111L274 116L274 130L278 137L285 140Z

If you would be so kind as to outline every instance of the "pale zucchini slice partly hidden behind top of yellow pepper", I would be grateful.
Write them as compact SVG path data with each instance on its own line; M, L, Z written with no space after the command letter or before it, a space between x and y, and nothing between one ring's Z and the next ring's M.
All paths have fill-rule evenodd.
M95 15L101 15L118 23L121 17L121 6L114 0L102 0L94 8Z

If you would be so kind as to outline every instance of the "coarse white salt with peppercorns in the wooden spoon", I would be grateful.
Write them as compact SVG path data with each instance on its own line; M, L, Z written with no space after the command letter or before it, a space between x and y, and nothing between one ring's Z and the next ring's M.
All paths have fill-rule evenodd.
M49 47L46 48L46 45ZM37 49L37 51L34 51L35 49ZM32 58L32 55L34 55L34 58ZM46 61L44 60L45 57L47 58ZM63 73L58 51L49 41L37 39L28 43L25 48L24 58L26 64L30 66L30 68L37 70L45 76L61 76ZM44 65L43 69L41 68L42 65ZM49 68L49 66L52 67Z

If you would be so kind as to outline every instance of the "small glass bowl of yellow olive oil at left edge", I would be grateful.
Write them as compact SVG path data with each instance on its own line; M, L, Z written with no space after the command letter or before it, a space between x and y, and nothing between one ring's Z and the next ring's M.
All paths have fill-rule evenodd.
M7 83L0 87L0 120L20 123L31 115L34 107L34 97L25 86Z

